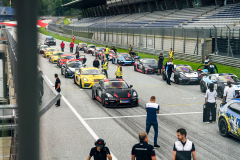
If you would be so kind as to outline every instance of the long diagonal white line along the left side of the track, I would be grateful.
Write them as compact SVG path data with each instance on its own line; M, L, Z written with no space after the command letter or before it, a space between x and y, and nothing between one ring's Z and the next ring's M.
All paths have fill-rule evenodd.
M53 83L48 79L47 76L45 76L48 82L53 85ZM68 100L62 95L62 99L64 102L68 105L68 107L72 110L72 112L75 114L75 116L80 120L80 122L84 125L84 127L88 130L88 132L93 136L95 140L99 139L97 134L90 128L90 126L85 122L85 120L77 113L77 111L74 109L74 107L68 102ZM117 158L113 155L111 152L111 156L113 160L117 160Z

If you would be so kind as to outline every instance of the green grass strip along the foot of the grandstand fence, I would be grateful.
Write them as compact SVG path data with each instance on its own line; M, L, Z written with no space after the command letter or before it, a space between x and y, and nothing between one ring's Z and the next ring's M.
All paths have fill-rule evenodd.
M63 37L63 36L59 36L56 34L53 34L51 32L48 32L45 30L44 27L39 28L38 30L40 33L45 34L45 35L51 35L56 39L62 40L62 41L66 41L66 42L71 42L72 39L71 38L67 38L67 37ZM75 43L86 43L80 40L75 40ZM87 43L90 44L90 43ZM96 46L100 47L101 45L97 45ZM128 50L126 49L120 49L117 48L118 52L122 52L122 53L128 53ZM156 60L158 59L158 56L156 55L149 55L149 54L145 54L145 53L138 53L138 55L140 56L140 58L155 58ZM166 63L168 61L168 58L164 58L164 63ZM196 70L200 65L202 65L202 63L193 63L193 62L187 62L187 61L181 61L181 60L173 60L173 62L175 64L188 64L190 65L194 70ZM218 68L219 73L233 73L236 74L238 77L240 77L240 68L235 68L235 67L230 67L230 66L225 66L222 64L217 64L215 63L215 65Z

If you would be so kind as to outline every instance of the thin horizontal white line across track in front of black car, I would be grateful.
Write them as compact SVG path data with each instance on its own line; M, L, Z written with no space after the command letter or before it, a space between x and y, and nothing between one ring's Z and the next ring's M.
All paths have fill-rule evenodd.
M157 116L173 116L173 115L202 114L202 113L203 113L203 112L166 113L166 114L158 114ZM137 117L146 117L146 116L147 116L147 115L118 116L118 117L98 117L98 118L84 118L84 120L119 119L119 118L137 118Z

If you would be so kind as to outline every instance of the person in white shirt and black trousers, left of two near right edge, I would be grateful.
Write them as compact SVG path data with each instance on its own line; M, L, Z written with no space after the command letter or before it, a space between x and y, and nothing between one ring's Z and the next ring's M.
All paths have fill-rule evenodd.
M208 86L208 90L206 91L205 95L205 105L206 105L206 117L204 118L206 123L215 122L216 121L216 99L217 99L217 92L214 90L214 84L211 83ZM210 112L212 118L210 119Z

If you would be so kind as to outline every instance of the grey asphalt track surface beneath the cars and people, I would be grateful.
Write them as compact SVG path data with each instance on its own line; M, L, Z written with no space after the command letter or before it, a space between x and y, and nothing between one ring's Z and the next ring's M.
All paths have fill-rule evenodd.
M46 35L39 34L39 43ZM56 40L60 48L60 40ZM75 46L74 46L75 52ZM70 54L69 42L65 42L65 54ZM86 67L92 67L94 56L86 55ZM141 58L141 57L140 57ZM133 66L123 66L123 79L138 93L139 106L133 108L104 108L92 100L91 89L81 89L73 78L61 75L61 69L39 55L39 68L54 84L54 74L61 80L61 106L53 106L40 122L41 159L87 159L98 138L106 141L113 159L127 160L131 149L139 143L138 134L146 130L145 104L156 96L160 105L158 114L157 159L169 160L173 145L177 141L176 130L185 128L187 138L195 144L197 159L239 159L239 140L224 138L219 134L217 123L203 123L204 93L199 85L167 85L161 76L135 72ZM108 76L115 78L117 66L109 63ZM218 108L222 100L217 99ZM154 130L149 133L149 144L153 145Z

